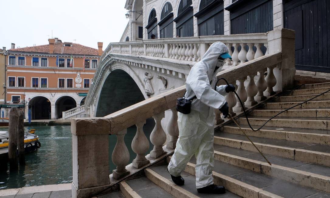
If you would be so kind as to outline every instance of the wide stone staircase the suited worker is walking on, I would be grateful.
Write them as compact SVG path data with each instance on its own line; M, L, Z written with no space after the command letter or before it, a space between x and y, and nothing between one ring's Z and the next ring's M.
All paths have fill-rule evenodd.
M258 128L267 119L301 101L330 89L330 82L305 84L249 113ZM120 183L120 191L98 197L330 197L330 93L297 106L253 132L245 117L237 120L268 160L257 152L240 129L229 123L215 130L214 182L224 195L199 194L195 187L193 157L182 177L171 181L166 167L170 157L145 169L144 175Z

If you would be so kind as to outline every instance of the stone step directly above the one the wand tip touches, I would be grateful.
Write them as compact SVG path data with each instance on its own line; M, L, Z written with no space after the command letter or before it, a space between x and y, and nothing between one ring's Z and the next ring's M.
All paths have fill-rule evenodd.
M262 153L330 166L330 146L259 137L249 138ZM237 134L217 132L214 143L237 149L257 151L245 136Z

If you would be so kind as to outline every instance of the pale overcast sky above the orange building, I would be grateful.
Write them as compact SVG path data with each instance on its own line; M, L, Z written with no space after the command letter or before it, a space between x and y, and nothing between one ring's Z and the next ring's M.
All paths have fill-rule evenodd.
M62 42L79 43L103 50L119 42L127 25L126 0L9 0L0 6L0 48L49 44L57 37ZM49 36L48 36L49 35ZM74 41L76 40L76 41Z

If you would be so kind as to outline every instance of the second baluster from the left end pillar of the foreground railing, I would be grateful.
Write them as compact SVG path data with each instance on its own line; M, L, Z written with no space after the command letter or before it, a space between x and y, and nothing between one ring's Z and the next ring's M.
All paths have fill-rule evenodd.
M149 163L145 156L149 149L149 141L143 131L145 123L146 121L135 124L136 134L132 141L132 150L136 153L136 158L132 162L134 168L141 168Z

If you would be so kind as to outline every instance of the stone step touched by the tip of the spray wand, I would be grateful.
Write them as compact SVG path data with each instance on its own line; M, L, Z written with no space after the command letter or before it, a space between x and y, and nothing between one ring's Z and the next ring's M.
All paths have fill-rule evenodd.
M330 193L330 182L328 182L330 181L330 167L274 155L266 155L266 158L272 165L269 165L257 152L222 146L215 148L215 159L221 162ZM296 167L298 169L294 169ZM299 170L301 167L304 167L303 170Z

